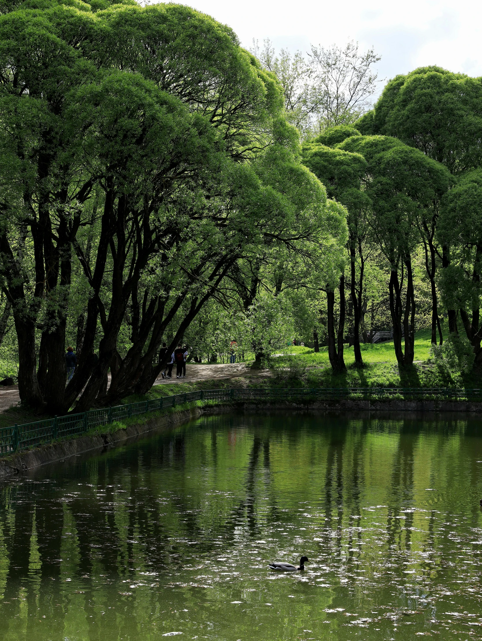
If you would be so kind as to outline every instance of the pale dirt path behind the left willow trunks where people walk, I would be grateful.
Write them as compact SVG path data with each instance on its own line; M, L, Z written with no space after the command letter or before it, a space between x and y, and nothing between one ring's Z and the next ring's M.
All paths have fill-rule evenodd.
M154 385L177 385L177 383L184 383L188 381L206 381L208 379L217 378L237 378L239 376L266 376L269 370L253 370L250 369L246 363L227 363L227 365L198 365L198 363L188 363L186 365L186 378L175 378L175 367L173 371L173 379L163 379L161 377L156 379ZM109 383L111 384L111 376L109 374ZM19 387L18 385L9 385L8 387L0 387L0 412L8 410L12 405L19 403Z

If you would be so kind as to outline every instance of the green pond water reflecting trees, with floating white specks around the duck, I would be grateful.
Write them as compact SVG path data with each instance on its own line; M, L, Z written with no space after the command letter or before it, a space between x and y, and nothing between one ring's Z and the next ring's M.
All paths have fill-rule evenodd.
M203 417L0 483L0 639L481 639L481 497L481 420Z

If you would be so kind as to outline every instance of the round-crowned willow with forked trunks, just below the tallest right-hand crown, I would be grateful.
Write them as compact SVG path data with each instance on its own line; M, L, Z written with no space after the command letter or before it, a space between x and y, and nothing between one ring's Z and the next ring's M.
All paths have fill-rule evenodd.
M451 184L446 167L396 138L354 136L340 149L367 161L369 224L390 265L390 316L400 365L414 361L415 295L412 254L419 243L417 220L440 201ZM406 288L404 291L404 286ZM405 335L405 352L401 346Z

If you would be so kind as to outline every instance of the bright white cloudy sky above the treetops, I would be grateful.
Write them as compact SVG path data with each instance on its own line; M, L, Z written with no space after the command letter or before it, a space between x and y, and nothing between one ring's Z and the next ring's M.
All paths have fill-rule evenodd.
M307 51L310 44L342 46L349 40L382 56L387 80L422 65L482 76L482 3L469 0L191 0L236 31L249 48L270 38L277 48ZM384 83L383 83L384 84Z

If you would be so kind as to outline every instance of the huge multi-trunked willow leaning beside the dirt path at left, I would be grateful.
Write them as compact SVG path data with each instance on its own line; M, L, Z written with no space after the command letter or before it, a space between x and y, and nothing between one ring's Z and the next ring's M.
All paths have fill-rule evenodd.
M174 4L31 6L0 17L0 271L20 398L61 412L80 394L83 410L147 390L163 331L175 321L179 340L237 260L316 242L326 196L277 79L229 28ZM65 390L78 266L84 338Z

